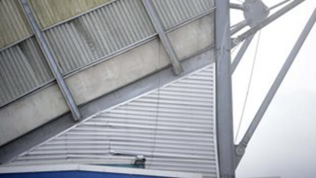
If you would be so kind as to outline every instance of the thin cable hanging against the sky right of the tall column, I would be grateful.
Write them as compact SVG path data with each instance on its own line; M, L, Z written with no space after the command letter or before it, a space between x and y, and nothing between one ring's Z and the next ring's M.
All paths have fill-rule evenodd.
M256 62L257 53L258 53L260 34L261 34L261 30L259 31L259 34L258 34L257 46L256 46L254 59L253 59L253 62L252 62L252 68L251 68L250 78L249 78L249 82L248 82L247 93L246 93L244 106L243 106L243 110L242 110L242 115L241 115L241 118L240 118L240 121L239 121L239 124L238 124L238 128L237 128L237 132L236 132L234 143L236 143L236 141L237 141L237 138L238 138L238 135L239 135L239 131L240 131L240 128L242 126L243 119L244 119L244 113L245 113L245 109L246 109L246 105L247 105L247 101L248 101L249 90L250 90L250 86L251 86L251 81L252 81L253 72L254 72L254 68L255 68L255 62Z

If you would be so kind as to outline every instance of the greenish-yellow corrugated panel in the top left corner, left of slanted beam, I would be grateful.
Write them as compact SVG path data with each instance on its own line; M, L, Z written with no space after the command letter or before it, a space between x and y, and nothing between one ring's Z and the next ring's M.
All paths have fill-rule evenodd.
M31 29L18 0L0 0L0 49L30 34Z

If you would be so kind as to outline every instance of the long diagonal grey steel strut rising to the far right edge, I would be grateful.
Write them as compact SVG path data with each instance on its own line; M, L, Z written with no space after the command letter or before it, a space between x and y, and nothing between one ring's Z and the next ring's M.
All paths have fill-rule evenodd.
M272 86L270 87L267 95L265 96L263 102L260 105L259 110L257 111L254 119L252 120L250 126L248 127L243 139L240 141L240 144L236 147L236 164L238 166L242 156L245 153L245 149L251 139L252 135L254 134L256 128L258 127L262 116L264 115L265 111L267 110L271 100L273 99L275 93L278 91L283 79L285 78L286 74L288 73L295 57L297 56L299 50L301 49L302 45L304 44L308 33L310 32L311 28L313 27L316 21L316 9L313 11L311 17L309 18L307 24L305 25L303 31L301 32L297 42L295 43L291 53L289 54L288 58L286 59L285 63L283 64L277 78L275 78Z

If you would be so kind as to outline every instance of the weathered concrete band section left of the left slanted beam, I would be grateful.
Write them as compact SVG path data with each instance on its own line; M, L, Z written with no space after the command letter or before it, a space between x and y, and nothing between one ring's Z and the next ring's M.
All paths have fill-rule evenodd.
M18 100L0 110L0 145L68 111L57 85Z

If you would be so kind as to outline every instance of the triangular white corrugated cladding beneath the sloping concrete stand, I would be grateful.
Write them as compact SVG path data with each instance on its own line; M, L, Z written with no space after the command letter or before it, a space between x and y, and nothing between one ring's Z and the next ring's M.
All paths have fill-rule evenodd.
M131 163L218 177L214 63L98 113L16 158L11 164Z

